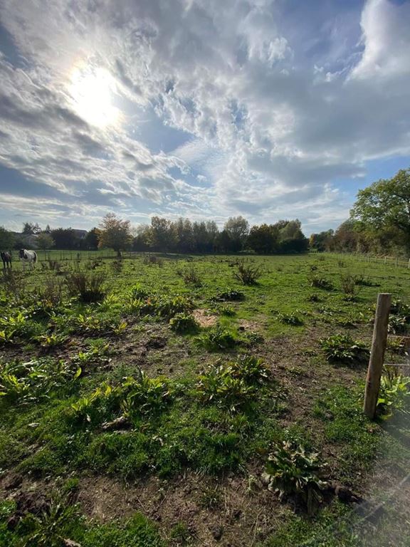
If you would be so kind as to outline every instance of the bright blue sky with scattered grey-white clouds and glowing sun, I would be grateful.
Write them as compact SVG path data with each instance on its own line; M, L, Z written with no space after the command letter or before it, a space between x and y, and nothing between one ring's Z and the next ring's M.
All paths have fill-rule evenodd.
M410 0L1 0L0 225L335 229L409 99Z

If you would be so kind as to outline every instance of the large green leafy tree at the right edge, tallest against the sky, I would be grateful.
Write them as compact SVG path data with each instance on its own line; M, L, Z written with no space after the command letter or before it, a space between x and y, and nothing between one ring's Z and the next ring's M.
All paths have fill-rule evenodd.
M359 190L351 218L382 246L383 239L394 241L410 253L410 168Z

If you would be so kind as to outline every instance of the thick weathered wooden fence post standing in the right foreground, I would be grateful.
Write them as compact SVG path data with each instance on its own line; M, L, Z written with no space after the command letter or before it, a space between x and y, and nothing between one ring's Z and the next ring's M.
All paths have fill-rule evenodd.
M364 389L363 411L370 420L376 414L379 397L380 379L382 377L384 351L387 345L387 326L389 324L391 294L380 293L377 296L376 316L374 318L372 351L367 369L366 387Z

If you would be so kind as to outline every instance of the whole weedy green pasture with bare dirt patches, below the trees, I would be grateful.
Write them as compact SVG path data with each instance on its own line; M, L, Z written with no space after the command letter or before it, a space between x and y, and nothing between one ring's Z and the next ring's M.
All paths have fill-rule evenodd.
M362 414L377 293L406 333L408 270L59 252L0 282L0 547L409 546L391 371Z

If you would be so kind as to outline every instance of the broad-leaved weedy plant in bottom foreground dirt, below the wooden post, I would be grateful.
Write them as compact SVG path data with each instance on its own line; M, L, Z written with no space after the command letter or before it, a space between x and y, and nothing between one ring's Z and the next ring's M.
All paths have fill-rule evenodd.
M322 502L322 490L327 486L322 479L325 467L320 463L319 454L307 452L296 442L283 441L268 457L268 489L277 492L280 501L287 496L296 496L304 502L308 514L313 514Z

